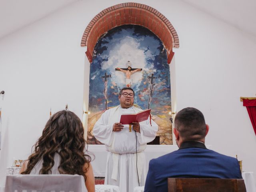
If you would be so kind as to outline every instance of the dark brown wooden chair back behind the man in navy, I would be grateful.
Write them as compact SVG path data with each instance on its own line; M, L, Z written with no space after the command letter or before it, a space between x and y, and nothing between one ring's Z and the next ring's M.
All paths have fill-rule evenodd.
M246 192L243 179L168 178L168 192Z

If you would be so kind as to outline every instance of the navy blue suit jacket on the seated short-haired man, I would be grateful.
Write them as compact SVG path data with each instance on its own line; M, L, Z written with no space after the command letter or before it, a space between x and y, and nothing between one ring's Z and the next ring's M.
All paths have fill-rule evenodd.
M184 142L180 149L149 162L144 192L167 192L167 178L242 178L236 158L208 150L200 142Z

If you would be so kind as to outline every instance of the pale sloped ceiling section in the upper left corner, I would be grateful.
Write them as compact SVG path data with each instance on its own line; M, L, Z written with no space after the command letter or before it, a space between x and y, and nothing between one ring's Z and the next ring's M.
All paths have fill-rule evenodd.
M0 0L0 38L78 0Z

